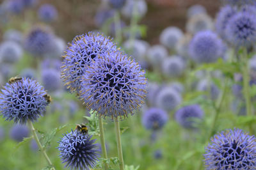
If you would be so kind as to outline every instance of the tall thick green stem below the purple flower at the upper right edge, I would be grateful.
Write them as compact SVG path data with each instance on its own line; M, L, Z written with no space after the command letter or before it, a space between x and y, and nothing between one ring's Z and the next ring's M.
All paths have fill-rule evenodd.
M244 98L246 102L246 114L248 116L253 116L252 104L250 97L250 77L249 77L249 68L248 68L248 59L246 54L246 49L244 49L243 56L241 56L243 63L243 89L244 89ZM248 124L250 134L253 134L252 124Z

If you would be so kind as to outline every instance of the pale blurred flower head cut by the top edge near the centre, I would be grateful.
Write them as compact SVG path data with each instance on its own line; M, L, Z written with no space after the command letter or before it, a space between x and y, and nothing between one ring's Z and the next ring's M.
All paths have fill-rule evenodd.
M129 0L126 1L122 8L122 15L131 19L133 13L136 13L138 17L143 17L147 13L147 3L145 0Z

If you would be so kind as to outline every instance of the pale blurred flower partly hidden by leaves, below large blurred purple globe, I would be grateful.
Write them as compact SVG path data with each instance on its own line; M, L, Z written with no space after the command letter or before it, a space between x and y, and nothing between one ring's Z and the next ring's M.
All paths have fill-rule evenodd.
M216 100L220 94L220 89L213 82L207 79L202 79L198 82L196 89L198 91L211 91L211 99Z

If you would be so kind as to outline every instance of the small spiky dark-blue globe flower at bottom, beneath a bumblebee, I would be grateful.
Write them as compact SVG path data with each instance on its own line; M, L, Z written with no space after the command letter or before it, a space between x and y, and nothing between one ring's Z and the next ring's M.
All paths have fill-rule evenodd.
M97 151L96 139L92 135L84 135L75 130L68 134L63 134L63 138L58 143L58 150L62 163L70 169L91 169L95 166L99 153Z

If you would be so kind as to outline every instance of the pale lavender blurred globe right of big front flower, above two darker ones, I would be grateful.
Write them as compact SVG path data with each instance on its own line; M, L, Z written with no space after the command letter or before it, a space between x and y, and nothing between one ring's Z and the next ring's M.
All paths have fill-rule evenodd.
M162 88L156 95L156 105L166 111L173 111L182 102L182 97L175 89Z

